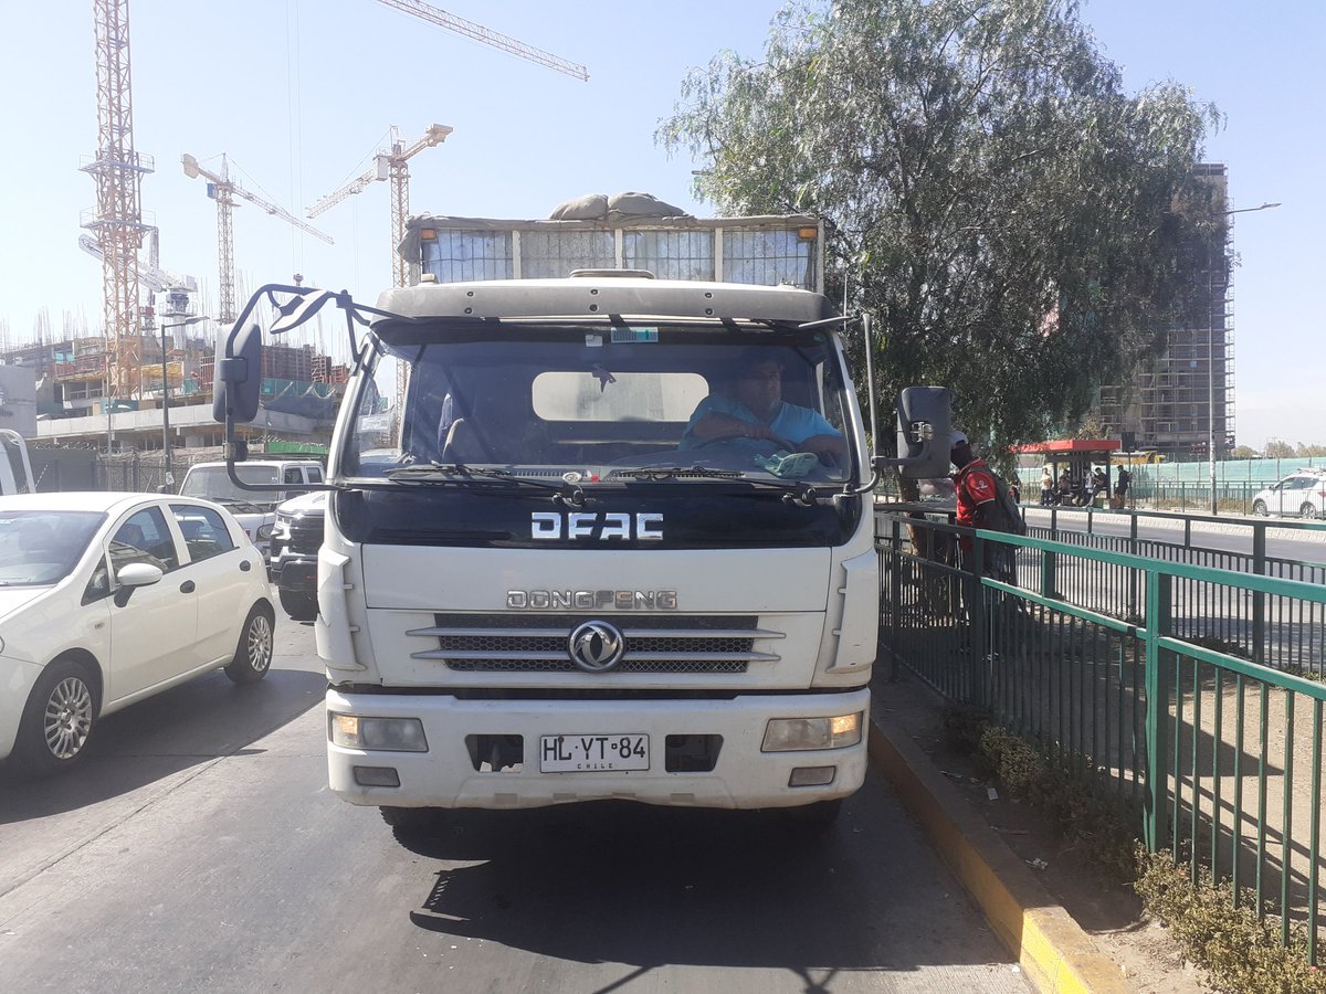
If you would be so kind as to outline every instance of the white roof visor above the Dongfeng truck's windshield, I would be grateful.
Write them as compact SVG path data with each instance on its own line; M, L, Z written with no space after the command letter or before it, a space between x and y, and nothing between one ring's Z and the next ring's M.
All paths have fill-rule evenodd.
M724 318L802 323L831 317L829 301L794 286L650 280L599 270L564 280L416 284L385 290L378 307L403 317L663 321Z

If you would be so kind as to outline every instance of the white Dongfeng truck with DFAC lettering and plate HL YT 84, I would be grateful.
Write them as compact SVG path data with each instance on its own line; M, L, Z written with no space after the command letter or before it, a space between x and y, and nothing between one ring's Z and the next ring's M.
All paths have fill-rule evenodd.
M947 391L904 391L902 457L870 456L813 217L424 217L411 245L377 307L267 286L219 346L233 439L257 301L273 333L329 301L366 327L318 559L332 789L400 828L602 798L830 820L866 770L870 490L947 470Z

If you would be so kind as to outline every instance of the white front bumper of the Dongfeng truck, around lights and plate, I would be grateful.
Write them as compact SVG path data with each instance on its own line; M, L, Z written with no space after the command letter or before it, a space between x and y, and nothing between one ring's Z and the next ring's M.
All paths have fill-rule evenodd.
M427 753L346 749L328 742L332 790L353 804L386 807L545 807L609 798L679 807L793 807L847 797L866 777L870 690L751 694L727 701L459 700L444 694L343 694L328 690L328 709L359 717L423 722ZM841 749L761 753L770 718L861 713L861 742ZM540 736L647 734L650 769L615 773L540 773ZM479 771L467 736L521 736L520 771ZM713 769L663 769L668 736L721 736ZM399 787L362 786L355 766L392 767ZM831 766L830 783L790 787L793 770Z

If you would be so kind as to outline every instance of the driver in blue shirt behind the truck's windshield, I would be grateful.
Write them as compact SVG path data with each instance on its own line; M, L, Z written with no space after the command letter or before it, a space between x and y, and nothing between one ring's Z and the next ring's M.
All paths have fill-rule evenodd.
M680 448L696 449L720 441L745 445L772 441L821 457L847 455L842 432L823 415L782 399L782 360L768 349L743 353L732 395L709 394L696 406Z

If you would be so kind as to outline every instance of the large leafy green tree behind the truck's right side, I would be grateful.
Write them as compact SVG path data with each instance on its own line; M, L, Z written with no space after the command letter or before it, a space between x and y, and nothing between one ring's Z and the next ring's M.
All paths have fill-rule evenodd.
M1216 123L1176 83L1124 94L1070 0L800 0L762 61L692 72L658 139L723 212L821 215L880 396L943 383L1005 444L1079 421L1195 315Z

